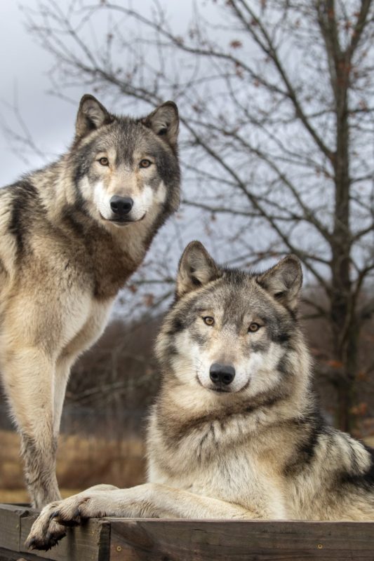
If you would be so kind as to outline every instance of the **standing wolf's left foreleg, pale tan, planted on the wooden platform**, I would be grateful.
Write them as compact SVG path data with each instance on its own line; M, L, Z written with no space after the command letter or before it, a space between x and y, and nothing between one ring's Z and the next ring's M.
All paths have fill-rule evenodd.
M36 508L60 499L53 434L54 359L36 347L7 349L1 370L21 435L25 480Z

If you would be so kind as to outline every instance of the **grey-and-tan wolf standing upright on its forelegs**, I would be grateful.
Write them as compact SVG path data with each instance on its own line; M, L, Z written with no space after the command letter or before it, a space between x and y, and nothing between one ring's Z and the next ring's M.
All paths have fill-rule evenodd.
M173 102L134 120L84 95L67 154L0 189L0 371L38 508L60 498L70 368L178 208L177 137Z

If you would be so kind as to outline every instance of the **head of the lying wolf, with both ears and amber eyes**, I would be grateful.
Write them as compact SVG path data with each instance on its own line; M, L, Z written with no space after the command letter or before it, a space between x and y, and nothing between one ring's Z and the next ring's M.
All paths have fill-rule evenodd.
M301 285L293 255L265 273L246 273L219 266L201 243L189 243L156 344L163 370L179 385L206 392L207 400L279 389L307 360L295 316Z

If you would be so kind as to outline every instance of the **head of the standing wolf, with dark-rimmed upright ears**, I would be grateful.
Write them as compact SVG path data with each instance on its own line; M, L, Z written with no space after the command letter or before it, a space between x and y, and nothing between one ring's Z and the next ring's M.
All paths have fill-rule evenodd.
M72 150L81 207L106 227L154 219L178 208L178 109L166 102L144 119L109 114L81 99Z

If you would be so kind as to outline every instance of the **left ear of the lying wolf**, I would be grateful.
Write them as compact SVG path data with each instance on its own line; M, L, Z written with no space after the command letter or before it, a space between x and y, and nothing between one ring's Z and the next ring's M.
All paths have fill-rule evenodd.
M180 258L176 295L181 297L220 276L222 276L220 269L203 244L199 241L192 241Z

